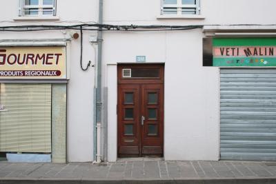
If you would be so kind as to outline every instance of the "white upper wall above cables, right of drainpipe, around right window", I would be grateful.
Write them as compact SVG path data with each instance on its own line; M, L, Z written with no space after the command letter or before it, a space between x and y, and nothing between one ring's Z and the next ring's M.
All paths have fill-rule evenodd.
M106 23L135 24L238 24L275 23L274 0L201 0L201 14L206 18L157 19L160 0L105 0L104 21Z

